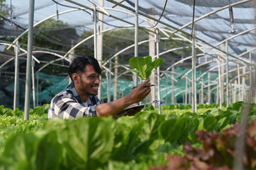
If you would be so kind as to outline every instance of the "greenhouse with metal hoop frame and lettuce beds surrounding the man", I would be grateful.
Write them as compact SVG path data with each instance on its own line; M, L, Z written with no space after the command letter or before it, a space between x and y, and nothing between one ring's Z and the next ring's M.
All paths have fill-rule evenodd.
M256 136L248 130L236 140L228 131L256 130L255 1L2 0L0 7L0 169L256 169ZM71 61L84 55L102 68L97 97L104 103L144 81L131 71L131 58L161 58L150 74L154 86L139 104L156 103L117 121L47 121L51 100L72 81ZM85 141L69 128L96 135ZM72 136L72 142L82 141L77 145L93 145L92 151L76 151L66 142ZM239 148L245 138L251 143ZM22 140L23 148L14 140ZM43 142L53 152L38 154ZM12 145L22 153L30 144L31 153L7 159L14 157ZM197 146L214 149L203 153ZM53 163L50 154L61 158ZM171 154L178 156L166 156ZM175 159L181 164L173 166Z

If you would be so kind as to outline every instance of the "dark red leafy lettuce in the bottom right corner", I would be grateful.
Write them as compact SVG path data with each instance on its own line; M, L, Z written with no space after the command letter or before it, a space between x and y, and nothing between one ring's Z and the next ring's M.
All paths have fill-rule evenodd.
M242 155L244 169L256 168L256 119L248 124L245 130L245 152ZM233 167L236 151L236 139L241 135L238 122L232 124L230 128L223 130L223 133L197 131L197 139L202 142L203 149L194 147L190 142L183 145L184 157L179 155L169 155L168 166L158 166L150 170L163 169L219 169L231 170ZM168 168L167 168L168 167Z

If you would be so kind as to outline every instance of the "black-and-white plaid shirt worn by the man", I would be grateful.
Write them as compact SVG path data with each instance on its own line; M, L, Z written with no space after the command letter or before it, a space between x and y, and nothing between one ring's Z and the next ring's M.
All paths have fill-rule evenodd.
M76 119L82 116L96 116L95 107L102 104L96 96L90 96L85 106L72 82L65 91L59 92L50 102L47 118L70 118Z

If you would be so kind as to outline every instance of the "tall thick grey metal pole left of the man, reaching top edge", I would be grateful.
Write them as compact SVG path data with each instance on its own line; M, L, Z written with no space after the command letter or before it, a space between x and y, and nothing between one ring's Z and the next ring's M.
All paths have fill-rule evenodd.
M31 58L33 44L33 23L34 23L34 8L35 0L29 1L29 34L28 34L28 54L26 58L26 88L25 88L25 103L24 103L24 120L29 120L30 108L30 88L31 88Z

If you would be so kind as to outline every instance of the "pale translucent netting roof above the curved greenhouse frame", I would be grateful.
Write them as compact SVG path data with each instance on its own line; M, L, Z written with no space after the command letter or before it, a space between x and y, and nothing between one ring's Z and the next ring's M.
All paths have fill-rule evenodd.
M53 16L59 20L68 23L70 26L78 30L92 29L93 21L91 18L91 10L93 9L93 1L65 1L65 0L44 0L35 1L34 23L41 22ZM135 1L126 0L121 5L117 1L104 1L105 10L111 16L104 16L104 28L120 28L134 23L133 14ZM229 3L230 2L230 3ZM148 26L148 18L146 16L154 16L160 22L152 22L160 28L169 28L172 34L174 32L191 34L192 21L194 16L194 26L196 36L199 42L204 43L207 47L218 46L219 43L228 40L228 52L230 55L240 55L255 47L255 9L251 0L218 0L218 1L193 1L173 0L173 1L153 1L140 0L139 3L139 26ZM76 4L75 4L76 3ZM96 1L96 3L98 3ZM116 7L112 7L116 3ZM29 0L6 0L5 4L11 7L11 13L6 19L19 25L20 28L28 28L29 24ZM79 5L81 4L81 5ZM233 25L231 28L229 6L233 7ZM77 8L87 7L85 10L76 10ZM59 16L56 15L58 10ZM64 11L70 12L64 13ZM100 10L100 9L99 9ZM62 14L63 13L63 14ZM140 15L141 14L141 15ZM18 35L22 31L15 30L14 27L6 26L2 30L5 34ZM230 33L230 31L235 31ZM239 34L239 36L238 36ZM208 49L203 49L209 51ZM254 53L254 52L253 52ZM245 55L246 56L246 55Z

